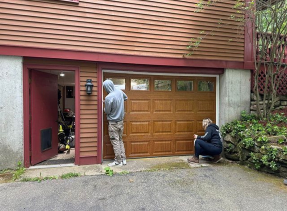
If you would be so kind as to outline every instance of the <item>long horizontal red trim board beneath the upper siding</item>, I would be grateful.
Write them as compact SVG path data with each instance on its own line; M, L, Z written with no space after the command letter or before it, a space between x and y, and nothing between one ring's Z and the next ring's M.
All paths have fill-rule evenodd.
M163 65L177 67L207 67L207 68L244 68L243 61L222 61L210 59L171 58L141 55L113 54L102 52L88 52L77 50L48 49L0 45L1 55L18 55L42 58L75 59L99 62L115 62L129 64Z

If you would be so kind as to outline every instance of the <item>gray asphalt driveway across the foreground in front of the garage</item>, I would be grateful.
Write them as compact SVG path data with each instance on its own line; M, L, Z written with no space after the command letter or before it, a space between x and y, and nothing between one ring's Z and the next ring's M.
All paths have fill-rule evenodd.
M0 210L287 210L282 178L235 163L0 184Z

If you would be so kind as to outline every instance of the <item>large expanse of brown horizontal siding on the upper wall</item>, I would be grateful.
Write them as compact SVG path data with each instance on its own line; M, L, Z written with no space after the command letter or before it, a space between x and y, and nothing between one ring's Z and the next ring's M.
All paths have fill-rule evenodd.
M183 57L191 38L208 33L191 58L242 61L244 31L230 19L235 1L194 12L197 2L2 0L0 44Z

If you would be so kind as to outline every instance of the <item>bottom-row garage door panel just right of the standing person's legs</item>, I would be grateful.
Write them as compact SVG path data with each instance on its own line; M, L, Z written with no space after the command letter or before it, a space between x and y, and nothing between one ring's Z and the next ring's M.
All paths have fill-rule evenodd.
M128 143L127 151L129 152L129 154L127 155L131 157L150 156L151 142L152 141L150 140L143 140L143 141L131 140Z

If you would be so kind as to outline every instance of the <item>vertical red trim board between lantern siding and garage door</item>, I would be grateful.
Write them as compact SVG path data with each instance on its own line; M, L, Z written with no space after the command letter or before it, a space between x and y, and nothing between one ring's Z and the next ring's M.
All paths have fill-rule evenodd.
M102 69L98 66L97 71L97 84L98 84L98 157L97 163L102 163L102 130L103 130L103 91L102 91L102 83L103 83L103 76L102 76Z

